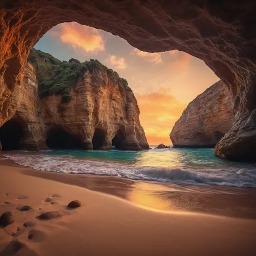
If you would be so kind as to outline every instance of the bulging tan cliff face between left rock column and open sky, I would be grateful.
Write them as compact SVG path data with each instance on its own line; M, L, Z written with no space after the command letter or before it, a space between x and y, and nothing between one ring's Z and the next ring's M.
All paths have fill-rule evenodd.
M95 133L102 135L97 148L101 150L112 149L113 138L121 134L120 149L148 149L137 101L116 74L88 71L80 77L76 88L70 90L70 96L67 103L61 103L60 95L42 99L46 134L51 127L59 125L79 137L82 147L89 150L95 147L92 141Z

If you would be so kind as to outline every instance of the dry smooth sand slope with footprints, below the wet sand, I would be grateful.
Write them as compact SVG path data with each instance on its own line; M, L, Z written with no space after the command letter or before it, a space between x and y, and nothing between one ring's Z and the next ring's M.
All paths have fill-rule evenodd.
M151 211L111 195L24 174L28 170L37 172L7 159L0 162L0 215L7 210L16 214L13 224L0 229L0 252L9 244L2 255L255 255L253 219ZM60 197L52 197L55 194ZM56 203L45 202L48 197ZM82 207L68 209L72 200L81 201ZM17 209L24 205L33 209ZM64 216L36 218L50 210ZM32 226L24 227L25 222Z

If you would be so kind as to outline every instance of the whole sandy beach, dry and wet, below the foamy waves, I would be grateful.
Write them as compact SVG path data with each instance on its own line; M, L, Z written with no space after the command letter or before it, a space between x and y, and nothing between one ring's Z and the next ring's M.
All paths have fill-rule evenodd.
M67 207L72 200L82 206ZM25 205L32 209L20 211ZM15 212L15 221L0 228L1 256L253 256L256 250L253 188L57 174L2 157L0 215L5 211ZM37 218L47 211L63 216Z

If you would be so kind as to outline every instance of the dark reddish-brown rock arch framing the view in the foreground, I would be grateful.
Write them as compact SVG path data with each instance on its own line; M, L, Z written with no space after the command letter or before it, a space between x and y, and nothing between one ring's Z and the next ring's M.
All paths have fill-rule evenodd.
M216 154L256 157L251 150L256 146L255 1L3 0L0 8L0 111L39 38L59 23L78 22L119 35L143 51L178 49L204 60L234 98L234 124Z

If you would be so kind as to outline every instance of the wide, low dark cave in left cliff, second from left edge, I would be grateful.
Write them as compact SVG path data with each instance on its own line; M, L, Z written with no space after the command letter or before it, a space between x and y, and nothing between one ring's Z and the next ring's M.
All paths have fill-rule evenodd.
M78 138L71 136L61 127L54 127L47 134L46 144L51 149L56 148L81 148Z

